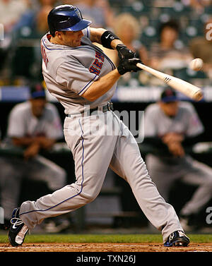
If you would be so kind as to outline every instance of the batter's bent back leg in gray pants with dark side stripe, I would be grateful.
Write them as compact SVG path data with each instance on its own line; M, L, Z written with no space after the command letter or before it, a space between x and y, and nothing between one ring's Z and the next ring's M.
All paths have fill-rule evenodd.
M86 119L76 131L64 131L75 161L76 182L20 206L20 218L30 228L47 217L66 214L93 201L100 193L117 137L86 133Z

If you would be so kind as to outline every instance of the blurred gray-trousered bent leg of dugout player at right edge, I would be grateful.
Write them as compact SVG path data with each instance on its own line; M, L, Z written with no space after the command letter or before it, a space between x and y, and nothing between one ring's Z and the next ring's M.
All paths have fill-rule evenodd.
M206 164L187 158L187 174L184 174L184 183L198 186L191 200L181 210L181 214L189 216L196 214L212 198L212 169Z

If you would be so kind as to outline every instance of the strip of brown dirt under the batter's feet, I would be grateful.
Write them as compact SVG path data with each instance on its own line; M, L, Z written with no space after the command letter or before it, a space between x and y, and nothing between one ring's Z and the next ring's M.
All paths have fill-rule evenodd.
M0 243L0 252L211 252L212 243L190 243L166 248L161 243L24 243L12 247Z

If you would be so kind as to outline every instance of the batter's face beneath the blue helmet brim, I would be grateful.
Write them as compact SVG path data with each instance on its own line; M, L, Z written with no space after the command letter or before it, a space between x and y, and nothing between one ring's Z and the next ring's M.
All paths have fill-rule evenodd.
M81 37L83 37L82 30L76 32L64 31L61 32L61 39L64 45L71 47L78 47L81 45Z

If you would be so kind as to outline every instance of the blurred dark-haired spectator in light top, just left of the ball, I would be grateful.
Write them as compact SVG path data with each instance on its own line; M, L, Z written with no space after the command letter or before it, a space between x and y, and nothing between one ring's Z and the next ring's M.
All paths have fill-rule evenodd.
M175 20L159 28L160 41L150 49L150 66L160 71L187 67L192 56L187 47L177 47L179 24Z

